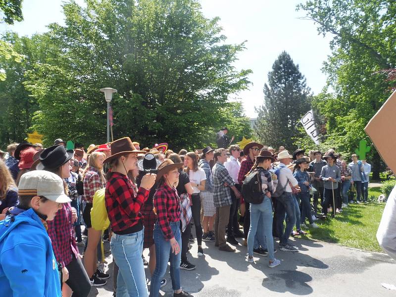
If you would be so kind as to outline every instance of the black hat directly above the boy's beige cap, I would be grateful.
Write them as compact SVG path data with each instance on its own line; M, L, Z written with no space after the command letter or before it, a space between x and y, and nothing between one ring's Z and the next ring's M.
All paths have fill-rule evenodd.
M44 149L40 153L40 164L37 164L37 170L55 169L62 166L74 156L74 150L64 146L52 146Z

